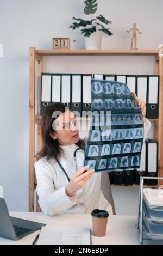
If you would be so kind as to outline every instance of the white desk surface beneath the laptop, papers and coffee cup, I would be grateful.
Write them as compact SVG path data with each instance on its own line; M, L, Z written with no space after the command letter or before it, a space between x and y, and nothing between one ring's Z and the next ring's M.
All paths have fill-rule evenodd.
M40 212L10 212L10 215L55 227L92 228L91 215L87 214L59 214L51 217ZM110 216L106 236L92 235L92 245L139 245L139 236L135 229L136 220L136 216ZM39 230L35 231L18 241L0 237L0 245L32 245L39 232Z

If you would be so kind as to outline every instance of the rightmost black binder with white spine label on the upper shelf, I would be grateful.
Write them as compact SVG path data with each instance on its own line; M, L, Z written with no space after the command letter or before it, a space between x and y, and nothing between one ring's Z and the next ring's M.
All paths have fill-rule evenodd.
M158 118L159 108L159 76L148 76L147 118Z

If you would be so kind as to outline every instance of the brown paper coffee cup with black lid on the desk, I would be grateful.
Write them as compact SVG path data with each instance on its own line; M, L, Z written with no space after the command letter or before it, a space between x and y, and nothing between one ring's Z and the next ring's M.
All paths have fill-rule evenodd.
M108 211L95 209L91 212L91 215L93 224L93 235L105 236L109 216Z

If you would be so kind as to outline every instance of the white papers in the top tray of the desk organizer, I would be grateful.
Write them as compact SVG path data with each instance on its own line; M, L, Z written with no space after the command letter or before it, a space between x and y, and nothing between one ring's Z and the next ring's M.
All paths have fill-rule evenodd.
M153 206L163 206L163 190L153 190L145 188L143 193L146 197L148 204Z

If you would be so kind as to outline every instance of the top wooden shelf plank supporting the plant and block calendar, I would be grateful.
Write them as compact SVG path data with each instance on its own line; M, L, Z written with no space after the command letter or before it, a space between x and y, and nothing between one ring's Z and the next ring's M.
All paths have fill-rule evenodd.
M79 55L157 55L158 50L35 50L37 56L79 56Z

